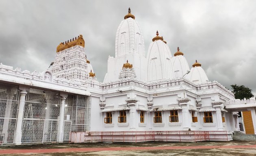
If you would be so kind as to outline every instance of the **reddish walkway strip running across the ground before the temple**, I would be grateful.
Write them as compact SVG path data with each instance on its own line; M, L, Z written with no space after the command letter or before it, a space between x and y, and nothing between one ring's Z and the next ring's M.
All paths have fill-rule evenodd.
M98 151L135 151L135 150L185 150L185 149L230 149L230 148L256 148L256 145L223 145L223 146L160 146L160 147L90 147L90 148L65 148L65 149L33 149L33 150L0 150L0 154L24 153L63 153L63 152L98 152Z

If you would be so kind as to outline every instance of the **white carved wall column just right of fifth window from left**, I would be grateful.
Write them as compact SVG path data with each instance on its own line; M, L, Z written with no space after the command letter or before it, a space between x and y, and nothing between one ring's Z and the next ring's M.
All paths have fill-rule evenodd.
M191 119L189 117L189 104L191 101L189 98L177 99L181 108L182 108L182 121L183 121L183 130L189 130L191 127Z

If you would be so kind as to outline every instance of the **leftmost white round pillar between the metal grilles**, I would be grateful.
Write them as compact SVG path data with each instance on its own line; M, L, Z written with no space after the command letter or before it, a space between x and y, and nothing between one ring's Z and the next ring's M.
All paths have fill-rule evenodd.
M24 106L26 95L30 88L20 86L20 103L19 103L19 110L17 115L17 124L16 124L16 131L15 131L15 140L14 143L16 145L20 145L22 143L22 119L24 113Z

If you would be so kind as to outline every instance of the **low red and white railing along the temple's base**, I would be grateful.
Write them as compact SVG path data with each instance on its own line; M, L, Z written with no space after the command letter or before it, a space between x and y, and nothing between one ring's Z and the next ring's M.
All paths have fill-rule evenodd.
M69 141L83 142L144 142L144 141L228 141L227 131L107 131L71 132Z

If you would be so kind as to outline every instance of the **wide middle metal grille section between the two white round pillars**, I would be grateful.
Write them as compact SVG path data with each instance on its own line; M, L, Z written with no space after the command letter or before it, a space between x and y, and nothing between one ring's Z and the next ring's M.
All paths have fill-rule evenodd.
M58 92L30 88L22 123L22 143L58 140L60 97Z

